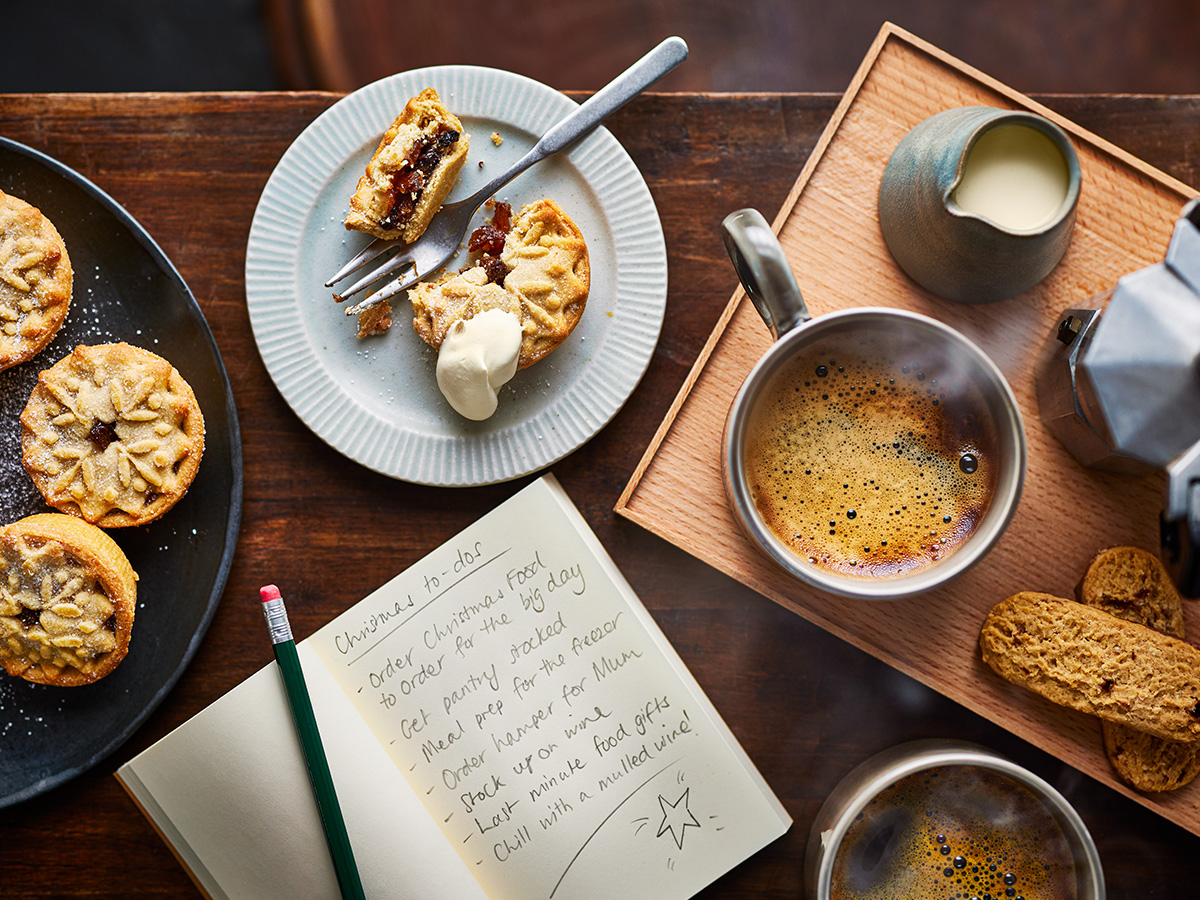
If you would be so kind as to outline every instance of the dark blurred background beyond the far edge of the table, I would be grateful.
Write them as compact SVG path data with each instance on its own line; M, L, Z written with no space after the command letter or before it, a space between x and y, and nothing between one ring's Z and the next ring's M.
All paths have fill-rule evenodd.
M842 91L884 20L1025 92L1200 92L1200 0L0 0L0 92L353 90L443 64L594 90L671 34L691 58L662 90Z

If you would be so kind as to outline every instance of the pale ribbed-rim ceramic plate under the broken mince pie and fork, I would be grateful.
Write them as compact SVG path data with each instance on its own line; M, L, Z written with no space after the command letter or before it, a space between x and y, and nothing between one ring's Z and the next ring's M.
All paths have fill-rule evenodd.
M604 127L502 188L497 199L514 214L550 197L575 220L592 289L575 331L517 372L496 415L461 418L438 391L437 354L413 331L407 299L394 304L386 335L360 341L355 319L324 287L371 240L343 228L347 204L380 134L427 86L470 138L449 202L500 174L576 106L522 76L473 66L403 72L350 94L296 138L266 182L246 248L246 302L268 372L318 437L406 481L484 485L560 460L629 398L662 326L666 245L641 173Z

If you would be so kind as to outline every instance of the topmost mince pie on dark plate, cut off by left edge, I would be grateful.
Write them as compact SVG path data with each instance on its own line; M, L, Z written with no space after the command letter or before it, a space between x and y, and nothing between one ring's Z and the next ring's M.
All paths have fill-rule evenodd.
M71 259L50 221L0 191L0 370L32 359L71 304Z

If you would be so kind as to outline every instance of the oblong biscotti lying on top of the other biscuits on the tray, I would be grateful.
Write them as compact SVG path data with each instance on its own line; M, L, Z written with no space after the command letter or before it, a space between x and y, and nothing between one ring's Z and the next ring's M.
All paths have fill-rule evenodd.
M1200 739L1200 649L1050 594L997 604L983 661L1060 706L1168 740Z

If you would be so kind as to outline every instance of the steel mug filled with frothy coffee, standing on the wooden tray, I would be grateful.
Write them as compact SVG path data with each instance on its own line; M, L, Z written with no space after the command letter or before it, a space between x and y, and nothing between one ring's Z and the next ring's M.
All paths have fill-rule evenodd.
M887 600L955 577L1000 539L1025 476L1004 377L974 343L904 310L811 318L756 210L722 232L775 342L730 409L722 472L743 530L784 570Z

